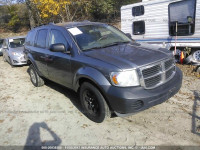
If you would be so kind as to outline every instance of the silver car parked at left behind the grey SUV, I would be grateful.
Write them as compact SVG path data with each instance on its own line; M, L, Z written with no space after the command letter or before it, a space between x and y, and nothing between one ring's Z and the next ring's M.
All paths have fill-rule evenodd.
M3 59L12 67L27 64L24 57L25 37L7 38L3 42Z

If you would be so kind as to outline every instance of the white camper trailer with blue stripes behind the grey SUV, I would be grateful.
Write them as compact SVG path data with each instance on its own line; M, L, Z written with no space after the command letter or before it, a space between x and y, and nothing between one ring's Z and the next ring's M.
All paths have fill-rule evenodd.
M121 30L138 42L200 50L200 0L143 0L121 8ZM200 51L194 55L200 61Z

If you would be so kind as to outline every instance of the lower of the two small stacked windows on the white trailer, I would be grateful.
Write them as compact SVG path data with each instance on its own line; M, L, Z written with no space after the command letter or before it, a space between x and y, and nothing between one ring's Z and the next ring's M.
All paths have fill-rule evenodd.
M133 22L133 34L134 35L145 34L145 22L144 21Z

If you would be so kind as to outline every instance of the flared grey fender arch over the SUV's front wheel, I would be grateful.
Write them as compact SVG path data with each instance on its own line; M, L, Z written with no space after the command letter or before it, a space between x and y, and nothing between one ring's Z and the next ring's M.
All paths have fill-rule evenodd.
M93 83L96 84L98 88L101 89L102 92L105 92L107 88L111 86L108 79L100 71L92 67L84 67L80 68L74 76L73 88L76 92L80 87L79 80L81 78L86 78L88 80L91 80Z

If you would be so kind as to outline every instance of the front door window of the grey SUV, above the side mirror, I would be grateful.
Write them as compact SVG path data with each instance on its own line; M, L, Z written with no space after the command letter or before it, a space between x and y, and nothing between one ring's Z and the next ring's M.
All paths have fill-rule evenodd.
M58 44L58 43L64 44L65 47L68 46L67 40L65 39L63 34L60 31L53 29L51 30L49 46L52 44Z

